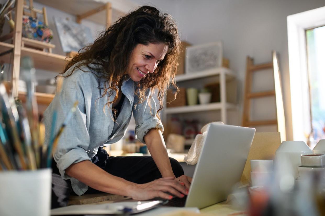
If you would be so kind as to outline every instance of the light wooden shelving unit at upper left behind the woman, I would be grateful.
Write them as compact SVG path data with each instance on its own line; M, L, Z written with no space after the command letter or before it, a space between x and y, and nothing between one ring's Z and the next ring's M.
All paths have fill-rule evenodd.
M112 20L117 20L118 17L127 13L130 8L136 6L134 3L127 0L89 0L87 2L82 2L82 4L80 4L79 0L36 0L36 2L76 15L78 22L86 18L96 23L107 25L107 27L110 26ZM27 6L24 6L23 0L17 0L15 22L16 20L22 20L23 8L27 8ZM33 8L33 10L35 9ZM53 71L58 74L63 71L67 63L65 61L67 56L22 46L23 43L26 45L33 43L33 45L35 45L35 43L42 42L22 38L21 28L21 22L16 22L14 32L11 34L11 36L14 36L13 44L0 42L0 53L12 50L12 52L8 52L1 56L0 59L5 63L13 64L12 94L14 97L18 96L22 101L25 101L26 93L18 92L20 58L23 56L30 56L34 61L36 69ZM49 48L53 48L51 44L48 44L48 46ZM35 96L39 104L48 105L55 95L35 92Z

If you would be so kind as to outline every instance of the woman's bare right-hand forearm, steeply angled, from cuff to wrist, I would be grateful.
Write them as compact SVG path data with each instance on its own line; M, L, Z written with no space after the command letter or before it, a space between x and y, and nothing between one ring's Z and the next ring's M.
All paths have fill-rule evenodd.
M162 177L175 177L160 130L151 129L144 137L148 150Z

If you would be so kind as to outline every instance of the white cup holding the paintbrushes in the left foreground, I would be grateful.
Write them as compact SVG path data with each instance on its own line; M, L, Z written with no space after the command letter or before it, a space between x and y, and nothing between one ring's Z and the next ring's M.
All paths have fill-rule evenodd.
M48 216L52 169L0 172L0 215Z

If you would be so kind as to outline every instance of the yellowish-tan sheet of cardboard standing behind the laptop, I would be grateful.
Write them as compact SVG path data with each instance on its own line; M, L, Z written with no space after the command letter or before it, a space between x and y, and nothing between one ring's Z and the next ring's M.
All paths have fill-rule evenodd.
M279 132L255 133L251 149L241 176L242 185L251 184L251 161L250 160L273 160L275 151L281 144Z

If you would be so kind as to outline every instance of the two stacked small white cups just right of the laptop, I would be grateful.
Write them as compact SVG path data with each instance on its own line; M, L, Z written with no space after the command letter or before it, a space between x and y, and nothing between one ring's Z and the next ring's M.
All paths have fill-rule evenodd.
M273 176L273 160L251 160L252 186L265 187Z

